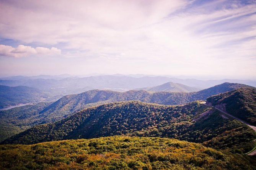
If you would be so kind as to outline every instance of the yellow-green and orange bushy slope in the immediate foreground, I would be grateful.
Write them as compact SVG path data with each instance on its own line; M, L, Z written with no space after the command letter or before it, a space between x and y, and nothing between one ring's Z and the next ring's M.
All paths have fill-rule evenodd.
M112 136L0 145L0 169L253 170L255 158L168 138Z

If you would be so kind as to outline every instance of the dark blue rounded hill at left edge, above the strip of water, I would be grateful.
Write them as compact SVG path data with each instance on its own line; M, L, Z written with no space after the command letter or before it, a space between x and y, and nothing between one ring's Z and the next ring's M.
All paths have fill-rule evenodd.
M36 103L46 95L39 89L26 86L8 87L0 85L0 107L19 103Z

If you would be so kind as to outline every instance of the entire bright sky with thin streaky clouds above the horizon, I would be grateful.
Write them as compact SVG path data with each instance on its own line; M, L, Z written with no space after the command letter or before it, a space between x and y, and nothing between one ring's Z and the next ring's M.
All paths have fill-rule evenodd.
M0 0L0 76L256 79L256 0Z

